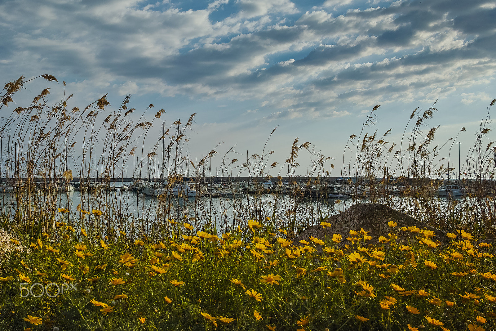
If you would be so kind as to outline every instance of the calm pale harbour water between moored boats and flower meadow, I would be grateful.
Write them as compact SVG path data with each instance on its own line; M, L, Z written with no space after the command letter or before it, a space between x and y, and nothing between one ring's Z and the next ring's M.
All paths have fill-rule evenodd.
M38 203L45 203L46 193L37 194ZM52 196L53 197L53 196ZM184 221L186 215L189 223L201 227L201 224L211 222L218 228L230 228L233 224L245 223L248 219L264 220L271 217L278 224L297 224L308 226L315 224L319 218L331 216L344 211L352 205L352 199L321 199L321 200L295 200L288 195L248 195L243 198L173 198L167 200L148 197L142 193L131 191L99 192L90 194L77 191L69 193L57 193L57 201L51 205L54 208L68 208L71 213L78 214L76 208L79 204L85 210L99 209L106 213L108 219L117 223L144 222L148 227L156 223L167 222L174 218L176 221ZM405 198L390 197L391 202L400 205L405 203ZM441 204L447 204L448 199L438 200ZM360 202L370 202L362 199ZM9 208L11 214L15 213L15 198L12 195L0 194L0 204L3 211ZM384 203L386 204L386 203ZM461 204L460 204L461 205ZM399 208L398 208L399 209ZM119 216L119 217L118 217ZM117 221L119 219L119 221Z

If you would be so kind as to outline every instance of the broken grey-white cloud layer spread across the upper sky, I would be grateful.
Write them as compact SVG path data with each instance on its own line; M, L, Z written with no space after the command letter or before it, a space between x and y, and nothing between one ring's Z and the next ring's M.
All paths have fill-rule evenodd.
M256 100L267 121L349 116L357 106L430 102L457 91L469 104L484 95L464 89L494 81L494 1L307 6L3 2L0 68L7 75L49 72L77 89L119 95Z

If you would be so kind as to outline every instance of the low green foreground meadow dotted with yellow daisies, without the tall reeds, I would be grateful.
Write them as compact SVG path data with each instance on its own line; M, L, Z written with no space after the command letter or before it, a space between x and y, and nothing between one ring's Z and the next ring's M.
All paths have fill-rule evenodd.
M177 222L172 236L132 242L58 218L50 236L2 258L2 330L434 330L430 318L443 330L495 325L495 248L464 231L444 246L395 224L376 247L360 229L343 243L330 228L325 243L296 243L267 218L218 236ZM396 241L400 231L408 242ZM40 295L37 285L39 297L20 297L34 283L75 288L57 295L51 285Z

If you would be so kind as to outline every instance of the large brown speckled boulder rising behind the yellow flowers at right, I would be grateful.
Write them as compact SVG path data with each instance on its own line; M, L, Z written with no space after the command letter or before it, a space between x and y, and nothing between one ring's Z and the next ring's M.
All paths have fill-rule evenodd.
M387 222L389 221L396 222L397 225L395 229L397 230L403 226L416 226L421 230L424 229L434 231L435 236L432 240L439 240L441 245L443 242L449 242L449 239L446 237L446 233L444 231L436 229L405 213L399 212L380 203L355 204L346 211L329 217L327 222L331 224L331 227L324 228L319 224L311 226L295 237L293 242L297 244L300 240L308 240L310 236L325 241L325 237L329 239L334 233L337 233L343 236L341 244L344 245L348 243L346 237L350 237L350 230L360 231L360 229L363 228L366 231L370 231L369 235L373 238L370 243L375 245L379 236L389 238L388 233L391 231L391 228L387 225ZM399 232L399 240L406 240L408 238L409 233L404 231Z

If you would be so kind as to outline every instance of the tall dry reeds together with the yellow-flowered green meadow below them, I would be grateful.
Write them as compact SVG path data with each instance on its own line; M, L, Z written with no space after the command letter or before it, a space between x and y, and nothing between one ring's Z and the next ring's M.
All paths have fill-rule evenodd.
M51 75L40 77L57 82ZM21 76L7 83L0 109L7 109L27 82ZM3 151L8 152L1 159L0 177L22 179L12 182L17 190L11 199L4 196L0 203L0 228L18 239L12 242L16 249L0 257L2 330L494 328L495 248L475 241L496 237L496 200L486 196L495 194L496 147L488 128L495 101L464 166L481 178L465 182L468 197L447 203L432 193L441 174L454 171L451 147L465 129L432 147L438 128L428 127L437 111L433 105L415 110L401 141L390 142L391 130L381 136L367 132L380 106L372 109L361 132L350 136L343 175L370 179L370 201L453 233L449 243L439 246L429 232L391 224L390 236L372 247L368 236L374 234L362 229L351 230L348 238L327 229L325 241L292 242L308 226L326 226L330 216L320 205L309 212L298 191L273 203L262 195L253 196L249 205L222 199L217 210L233 210L229 217L225 212L213 215L212 206L198 200L178 206L173 197L153 200L156 212L141 208L129 215L131 206L122 195L104 191L81 194L76 210L65 209L69 198L62 201L62 195L50 190L61 179L69 181L77 173L88 183L96 172L99 181L112 185L115 178L125 177L125 166L134 164L135 157L137 166L150 168L154 177L162 177L163 160L169 185L178 182L189 160L179 158L175 166L169 161L184 154L180 146L195 114L184 125L178 120L166 129L164 124L162 136L153 142L148 132L164 114L160 110L153 121L145 121L153 105L134 116L129 96L107 112L106 95L80 109L68 106L71 96L48 106L49 94L44 89L0 126ZM222 174L244 173L256 180L280 168L278 175L286 172L295 182L298 158L306 153L312 164L307 187L327 181L334 158L296 138L281 166L268 149L274 132L261 153L241 165L237 159L229 161L226 152ZM439 158L447 148L448 158ZM74 163L81 166L74 171L65 162L71 154L80 155ZM209 174L217 154L214 148L199 162L189 161L192 177ZM391 199L384 192L391 177L405 187L403 198ZM29 190L37 179L49 189L41 195ZM358 186L351 187L358 192ZM396 240L400 231L409 232L408 242ZM27 295L23 287L35 283L34 295ZM41 284L50 285L48 293L42 293ZM56 295L62 285L66 290Z

